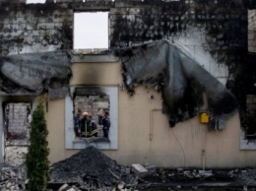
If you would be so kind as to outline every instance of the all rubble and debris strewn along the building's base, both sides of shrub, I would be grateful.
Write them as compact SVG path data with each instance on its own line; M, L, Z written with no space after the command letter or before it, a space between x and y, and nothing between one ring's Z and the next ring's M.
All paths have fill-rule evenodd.
M0 190L26 190L26 166L0 164ZM48 191L176 190L181 187L256 187L256 169L166 169L152 164L123 166L94 147L53 163ZM256 190L256 189L255 189Z

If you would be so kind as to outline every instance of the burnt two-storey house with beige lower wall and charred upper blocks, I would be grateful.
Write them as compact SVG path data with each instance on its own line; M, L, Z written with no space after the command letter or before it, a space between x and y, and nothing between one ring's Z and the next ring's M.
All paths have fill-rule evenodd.
M253 165L255 132L245 115L255 113L252 9L242 0L2 0L1 128L5 105L29 102L33 109L47 93L52 162L95 145L124 164ZM105 13L104 46L76 47L81 13ZM80 29L94 28L87 20ZM91 113L99 137L75 136L78 108ZM110 113L107 140L99 139L100 109Z

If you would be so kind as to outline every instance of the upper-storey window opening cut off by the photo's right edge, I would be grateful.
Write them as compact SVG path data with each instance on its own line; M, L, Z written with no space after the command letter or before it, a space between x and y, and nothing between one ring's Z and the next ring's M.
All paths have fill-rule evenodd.
M256 52L256 10L248 10L248 50Z

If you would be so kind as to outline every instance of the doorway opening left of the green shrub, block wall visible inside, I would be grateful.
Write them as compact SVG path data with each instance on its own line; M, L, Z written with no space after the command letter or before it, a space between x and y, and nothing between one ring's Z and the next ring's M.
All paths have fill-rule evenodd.
M32 103L8 102L4 104L4 160L18 165L25 161L30 145Z

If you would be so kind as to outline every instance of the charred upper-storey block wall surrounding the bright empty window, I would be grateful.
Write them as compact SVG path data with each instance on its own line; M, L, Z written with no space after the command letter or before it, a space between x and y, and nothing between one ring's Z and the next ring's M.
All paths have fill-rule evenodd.
M227 87L245 105L244 93L253 82L242 75L251 71L242 0L47 0L29 5L2 0L0 54L72 49L74 12L100 10L109 11L110 50L189 35L191 27L204 30L206 50L228 66Z

